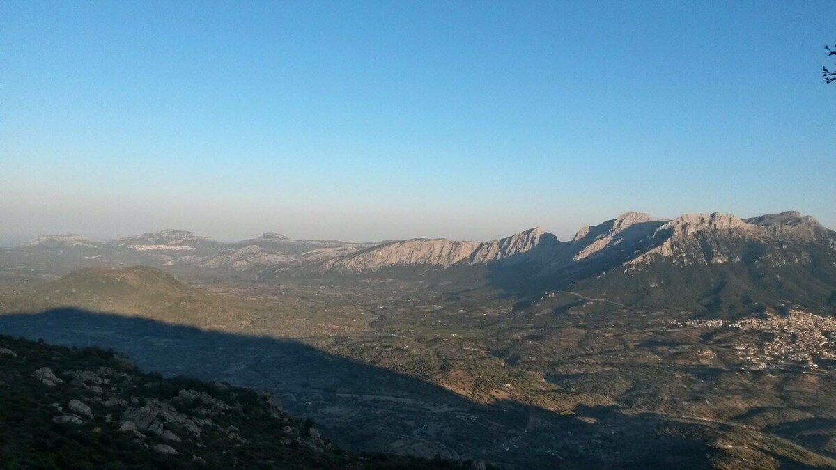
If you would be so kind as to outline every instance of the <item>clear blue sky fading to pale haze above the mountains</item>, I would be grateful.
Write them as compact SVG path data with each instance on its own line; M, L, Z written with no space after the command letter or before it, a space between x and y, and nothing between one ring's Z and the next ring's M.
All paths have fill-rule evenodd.
M833 2L0 2L0 244L836 228Z

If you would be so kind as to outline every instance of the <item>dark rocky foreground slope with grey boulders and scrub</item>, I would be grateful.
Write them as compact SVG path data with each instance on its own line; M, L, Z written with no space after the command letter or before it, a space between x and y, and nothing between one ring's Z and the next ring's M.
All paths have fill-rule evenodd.
M3 468L484 468L343 452L272 395L0 336Z

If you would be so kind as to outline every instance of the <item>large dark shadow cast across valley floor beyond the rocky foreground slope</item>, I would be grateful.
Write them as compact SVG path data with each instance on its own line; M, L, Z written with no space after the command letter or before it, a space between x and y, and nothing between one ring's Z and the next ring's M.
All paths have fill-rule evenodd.
M143 370L273 391L289 412L314 418L326 436L354 450L481 459L514 468L709 464L706 442L670 433L649 437L673 426L659 416L627 416L614 407L579 409L590 417L584 421L515 401L486 406L297 340L80 309L0 315L0 333L112 348Z

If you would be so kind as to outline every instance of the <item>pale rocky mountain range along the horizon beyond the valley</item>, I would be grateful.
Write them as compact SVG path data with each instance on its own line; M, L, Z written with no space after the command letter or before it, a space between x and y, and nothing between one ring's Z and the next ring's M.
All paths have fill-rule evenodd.
M83 251L104 260L294 276L415 276L431 272L510 294L571 289L625 305L750 312L800 304L836 309L836 232L798 212L746 219L718 212L674 219L626 212L568 241L535 227L487 242L412 238L385 243L293 240L275 232L222 243L181 230L98 243L35 238L17 250ZM133 259L133 258L132 258Z

